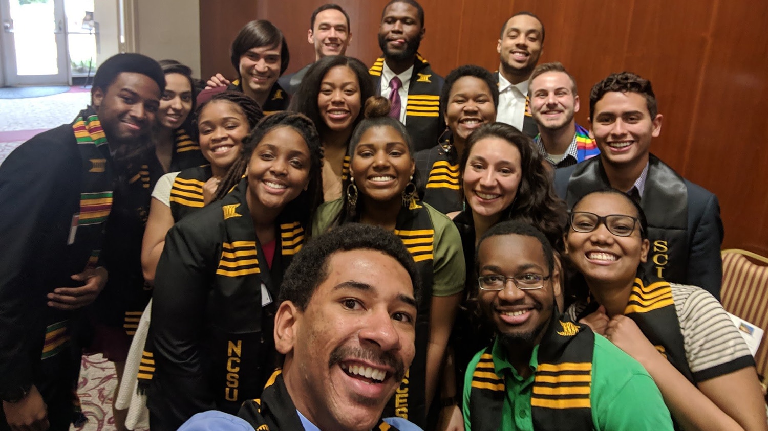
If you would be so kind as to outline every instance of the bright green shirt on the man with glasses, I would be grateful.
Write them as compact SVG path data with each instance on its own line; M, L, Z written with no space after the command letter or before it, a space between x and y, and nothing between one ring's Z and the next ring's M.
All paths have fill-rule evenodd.
M469 393L479 352L472 358L464 377L464 428L470 431ZM499 429L534 431L531 418L531 390L535 374L523 379L506 360L504 348L495 341L492 347L496 373L505 376L507 390ZM531 355L531 370L538 367L538 346ZM672 431L672 418L656 383L643 366L611 341L594 334L592 386L590 391L592 423L598 431Z

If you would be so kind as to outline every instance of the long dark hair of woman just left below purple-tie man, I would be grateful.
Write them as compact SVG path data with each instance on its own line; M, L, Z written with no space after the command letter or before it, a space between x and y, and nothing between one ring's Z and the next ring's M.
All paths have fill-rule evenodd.
M320 110L317 107L317 95L320 93L320 86L323 84L323 77L329 70L336 66L346 66L357 76L357 83L360 89L360 102L365 103L369 97L373 96L374 88L371 77L368 74L368 68L357 58L346 57L345 55L329 55L315 62L310 67L303 79L296 94L291 98L289 110L310 117L318 132L323 135L328 130L325 121L320 118ZM362 121L363 112L353 121L353 129Z

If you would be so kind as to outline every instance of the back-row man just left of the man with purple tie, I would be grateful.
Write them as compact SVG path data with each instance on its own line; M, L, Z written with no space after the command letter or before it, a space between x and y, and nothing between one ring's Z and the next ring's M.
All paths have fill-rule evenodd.
M312 12L310 31L306 39L315 48L315 61L326 55L344 55L346 47L352 41L349 31L349 15L339 5L326 3ZM307 64L293 74L286 74L277 80L287 94L293 96L301 81L314 63Z

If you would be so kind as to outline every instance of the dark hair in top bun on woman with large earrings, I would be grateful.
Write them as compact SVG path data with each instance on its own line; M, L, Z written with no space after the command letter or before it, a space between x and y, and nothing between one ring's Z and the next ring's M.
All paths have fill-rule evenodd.
M411 158L411 160L413 160L413 155L415 153L413 150L413 141L411 140L406 127L396 118L389 117L389 100L381 96L370 97L368 100L366 100L364 115L365 120L362 120L357 125L357 127L355 127L355 130L352 133L352 137L349 138L349 148L347 149L347 153L349 153L350 165L352 164L352 160L355 158L355 150L357 148L357 144L360 143L362 134L366 133L366 131L372 127L392 127L392 129L396 130L396 132L399 133L399 135L402 137L403 142L405 142L408 146L408 156ZM364 211L365 206L365 204L362 202L362 199L357 199L356 208L354 210L349 205L349 198L347 197L346 191L349 188L349 185L353 183L353 181L354 180L350 173L350 175L347 176L347 178L342 182L342 209L336 216L336 219L334 219L333 223L331 223L332 226L343 225L347 222L359 222L360 216L362 216L362 212ZM418 181L418 173L414 171L412 183L417 184Z

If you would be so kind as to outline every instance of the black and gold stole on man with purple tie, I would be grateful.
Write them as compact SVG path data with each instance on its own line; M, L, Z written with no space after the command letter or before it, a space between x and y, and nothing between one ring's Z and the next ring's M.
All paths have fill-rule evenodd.
M384 58L376 58L368 73L371 75L376 93L379 93ZM416 53L413 74L408 87L406 104L406 130L415 150L426 150L435 146L441 130L440 90L442 77L432 71L429 61Z

